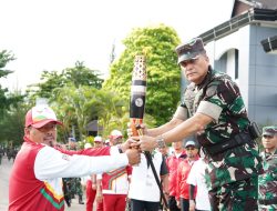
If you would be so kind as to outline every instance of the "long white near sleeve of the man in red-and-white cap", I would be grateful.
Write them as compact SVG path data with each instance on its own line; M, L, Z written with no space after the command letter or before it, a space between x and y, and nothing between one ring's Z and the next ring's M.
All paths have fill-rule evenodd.
M44 147L35 157L34 174L39 180L79 178L92 173L103 173L129 164L125 153L116 153L111 150L111 154L102 157L69 155L53 148Z

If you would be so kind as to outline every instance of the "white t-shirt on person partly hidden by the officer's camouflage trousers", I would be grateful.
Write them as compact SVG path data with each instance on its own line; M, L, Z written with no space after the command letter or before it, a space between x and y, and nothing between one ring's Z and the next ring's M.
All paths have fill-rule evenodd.
M187 178L187 183L197 187L195 203L197 210L211 210L208 190L205 182L206 163L201 158L195 161Z

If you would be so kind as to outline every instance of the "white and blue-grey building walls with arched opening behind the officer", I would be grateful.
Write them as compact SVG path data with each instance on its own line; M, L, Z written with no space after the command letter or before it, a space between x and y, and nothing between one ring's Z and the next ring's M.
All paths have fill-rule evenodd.
M211 41L206 50L214 67L227 53L225 70L235 79L235 49L238 50L238 79L249 119L259 124L277 123L277 56L266 53L260 41L277 34L276 28L248 24L224 38ZM226 58L224 58L226 59Z

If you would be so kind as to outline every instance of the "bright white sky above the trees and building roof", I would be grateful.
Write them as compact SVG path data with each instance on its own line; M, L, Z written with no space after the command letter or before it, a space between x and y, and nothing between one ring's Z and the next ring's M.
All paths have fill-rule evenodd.
M25 90L43 70L63 70L76 61L109 76L112 46L135 28L164 23L182 42L230 19L234 0L0 0L0 51L17 60L2 87Z

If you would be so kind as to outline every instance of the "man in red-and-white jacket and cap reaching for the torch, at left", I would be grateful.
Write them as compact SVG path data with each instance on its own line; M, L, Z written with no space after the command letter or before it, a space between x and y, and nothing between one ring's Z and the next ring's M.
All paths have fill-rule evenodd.
M63 211L62 178L102 173L140 162L137 150L126 150L129 142L80 151L55 148L57 124L62 123L45 104L28 111L24 142L9 180L9 211ZM120 153L119 148L125 153Z

